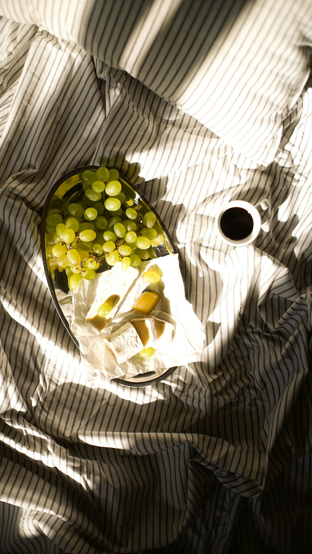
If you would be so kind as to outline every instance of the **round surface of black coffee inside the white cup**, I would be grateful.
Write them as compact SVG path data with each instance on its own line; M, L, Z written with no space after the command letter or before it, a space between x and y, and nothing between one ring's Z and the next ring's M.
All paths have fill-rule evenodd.
M231 240L247 238L253 230L253 218L247 209L229 208L221 216L222 233Z

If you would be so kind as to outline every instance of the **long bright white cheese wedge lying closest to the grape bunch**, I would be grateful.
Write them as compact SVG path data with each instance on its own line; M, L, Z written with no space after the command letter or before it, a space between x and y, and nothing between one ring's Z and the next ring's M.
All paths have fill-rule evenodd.
M132 266L130 266L127 271L123 271L121 269L121 263L117 263L112 266L105 285L103 287L99 286L98 290L96 290L95 299L90 307L90 310L88 311L88 314L86 314L86 320L92 320L98 314L99 307L104 304L104 302L111 295L118 295L119 301L116 302L115 306L106 316L106 319L114 317L120 303L124 300L138 274L139 271L136 268L132 268Z

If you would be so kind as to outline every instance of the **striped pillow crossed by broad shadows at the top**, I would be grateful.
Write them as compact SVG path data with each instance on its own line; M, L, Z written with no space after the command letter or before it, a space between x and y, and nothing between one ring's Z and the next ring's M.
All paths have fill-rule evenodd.
M0 0L0 13L74 40L263 166L309 77L310 0Z

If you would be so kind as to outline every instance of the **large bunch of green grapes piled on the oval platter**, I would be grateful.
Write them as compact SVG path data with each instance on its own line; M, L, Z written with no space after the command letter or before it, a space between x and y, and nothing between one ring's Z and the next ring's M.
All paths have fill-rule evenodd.
M154 257L156 216L143 214L121 191L119 172L100 167L81 175L83 193L77 202L49 209L46 232L53 233L52 257L65 269L75 290L81 279L92 280L100 265L121 261L124 271Z

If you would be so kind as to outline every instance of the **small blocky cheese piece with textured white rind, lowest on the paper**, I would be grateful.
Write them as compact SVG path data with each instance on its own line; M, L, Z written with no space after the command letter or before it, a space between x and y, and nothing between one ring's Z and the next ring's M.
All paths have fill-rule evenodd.
M143 343L135 327L127 322L120 329L105 338L105 345L115 356L117 363L129 360L131 356L143 350Z

